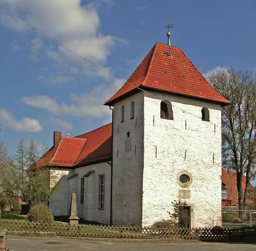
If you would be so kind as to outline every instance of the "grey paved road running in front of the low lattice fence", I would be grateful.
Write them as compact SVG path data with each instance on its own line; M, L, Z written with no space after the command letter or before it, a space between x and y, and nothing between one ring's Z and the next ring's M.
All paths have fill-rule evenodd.
M103 251L253 251L255 243L209 243L201 241L173 241L172 243L125 242L108 240L80 240L64 238L42 238L7 235L5 246L11 251L38 250L103 250Z

